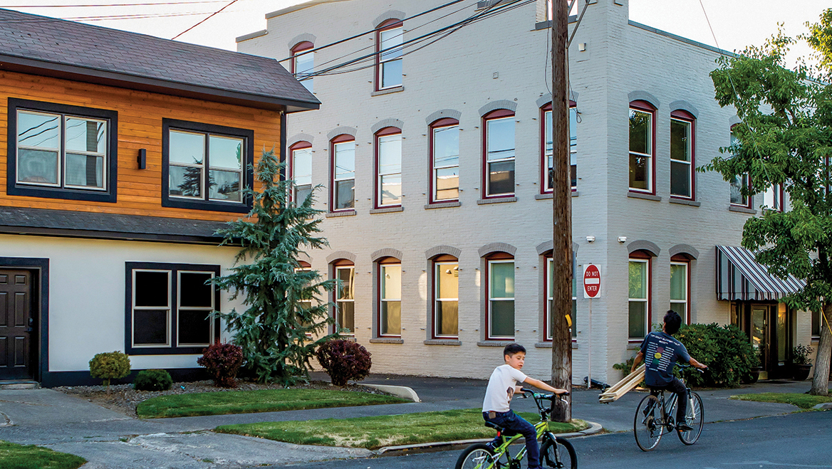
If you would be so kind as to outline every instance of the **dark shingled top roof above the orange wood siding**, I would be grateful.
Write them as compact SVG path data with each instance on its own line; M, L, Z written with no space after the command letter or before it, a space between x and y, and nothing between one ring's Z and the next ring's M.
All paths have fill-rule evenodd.
M267 57L0 9L0 70L266 109L320 101Z

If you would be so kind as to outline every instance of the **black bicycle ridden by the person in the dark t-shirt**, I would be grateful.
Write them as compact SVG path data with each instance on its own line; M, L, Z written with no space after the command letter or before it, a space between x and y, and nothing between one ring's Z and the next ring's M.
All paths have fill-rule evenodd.
M689 365L676 363L680 368L688 368ZM701 370L697 370L700 371ZM703 414L702 399L699 394L687 388L687 412L685 423L693 428L692 430L676 432L681 442L686 445L696 443L702 433L702 425L705 416ZM641 399L636 407L636 417L633 420L632 432L636 437L636 445L641 451L651 451L656 448L661 436L676 430L676 422L673 416L676 415L676 392L670 392L670 397L665 399L664 390L656 391Z

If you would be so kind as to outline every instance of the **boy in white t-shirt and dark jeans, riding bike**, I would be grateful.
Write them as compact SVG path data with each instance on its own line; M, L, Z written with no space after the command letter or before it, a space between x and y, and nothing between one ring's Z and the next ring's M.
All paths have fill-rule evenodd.
M483 418L500 427L513 432L521 433L526 437L526 452L528 455L528 469L540 468L540 448L537 447L537 430L516 413L512 412L509 404L515 392L520 392L521 386L518 383L531 384L535 388L544 389L548 392L562 394L566 389L552 388L547 383L529 378L523 374L523 361L526 359L526 348L519 343L509 343L503 348L504 365L494 368L491 378L488 379L488 388L485 390L483 400ZM500 437L495 437L488 443L490 447L500 445Z

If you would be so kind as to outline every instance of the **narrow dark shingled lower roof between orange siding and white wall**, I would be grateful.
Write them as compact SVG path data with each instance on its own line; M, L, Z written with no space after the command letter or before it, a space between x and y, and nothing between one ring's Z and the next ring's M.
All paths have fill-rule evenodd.
M223 227L220 221L0 207L0 233L7 234L220 244L215 231Z

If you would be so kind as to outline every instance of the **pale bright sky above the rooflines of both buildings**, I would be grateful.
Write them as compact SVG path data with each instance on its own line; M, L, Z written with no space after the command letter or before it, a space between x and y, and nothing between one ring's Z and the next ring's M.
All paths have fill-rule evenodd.
M360 0L354 0L360 1ZM600 0L611 1L611 0ZM165 5L138 6L136 3ZM265 29L265 14L300 0L0 0L0 7L49 17L62 17L171 39L222 7L225 9L177 38L210 47L236 50L235 37ZM413 0L418 5L418 0ZM473 2L473 0L472 0ZM761 45L785 23L787 35L806 32L830 0L629 0L630 19L728 51ZM78 4L125 4L128 7L71 7ZM48 5L52 7L37 7ZM61 7L57 7L57 6ZM706 21L711 21L711 28ZM414 11L415 12L415 11ZM176 15L176 16L173 16ZM87 17L87 19L79 19ZM121 17L94 21L90 17ZM716 37L716 39L715 39ZM805 42L792 48L790 62L811 52Z

